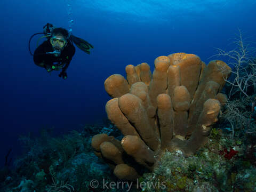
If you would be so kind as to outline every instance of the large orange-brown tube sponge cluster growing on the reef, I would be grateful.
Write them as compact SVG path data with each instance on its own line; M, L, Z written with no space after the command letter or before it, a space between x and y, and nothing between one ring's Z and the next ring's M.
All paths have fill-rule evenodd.
M147 63L125 70L127 80L114 74L105 81L113 98L106 104L108 118L124 138L94 135L92 147L119 179L135 180L141 167L134 162L153 170L162 151L189 156L207 142L231 69L221 60L206 66L195 54L174 53L156 58L153 74Z

